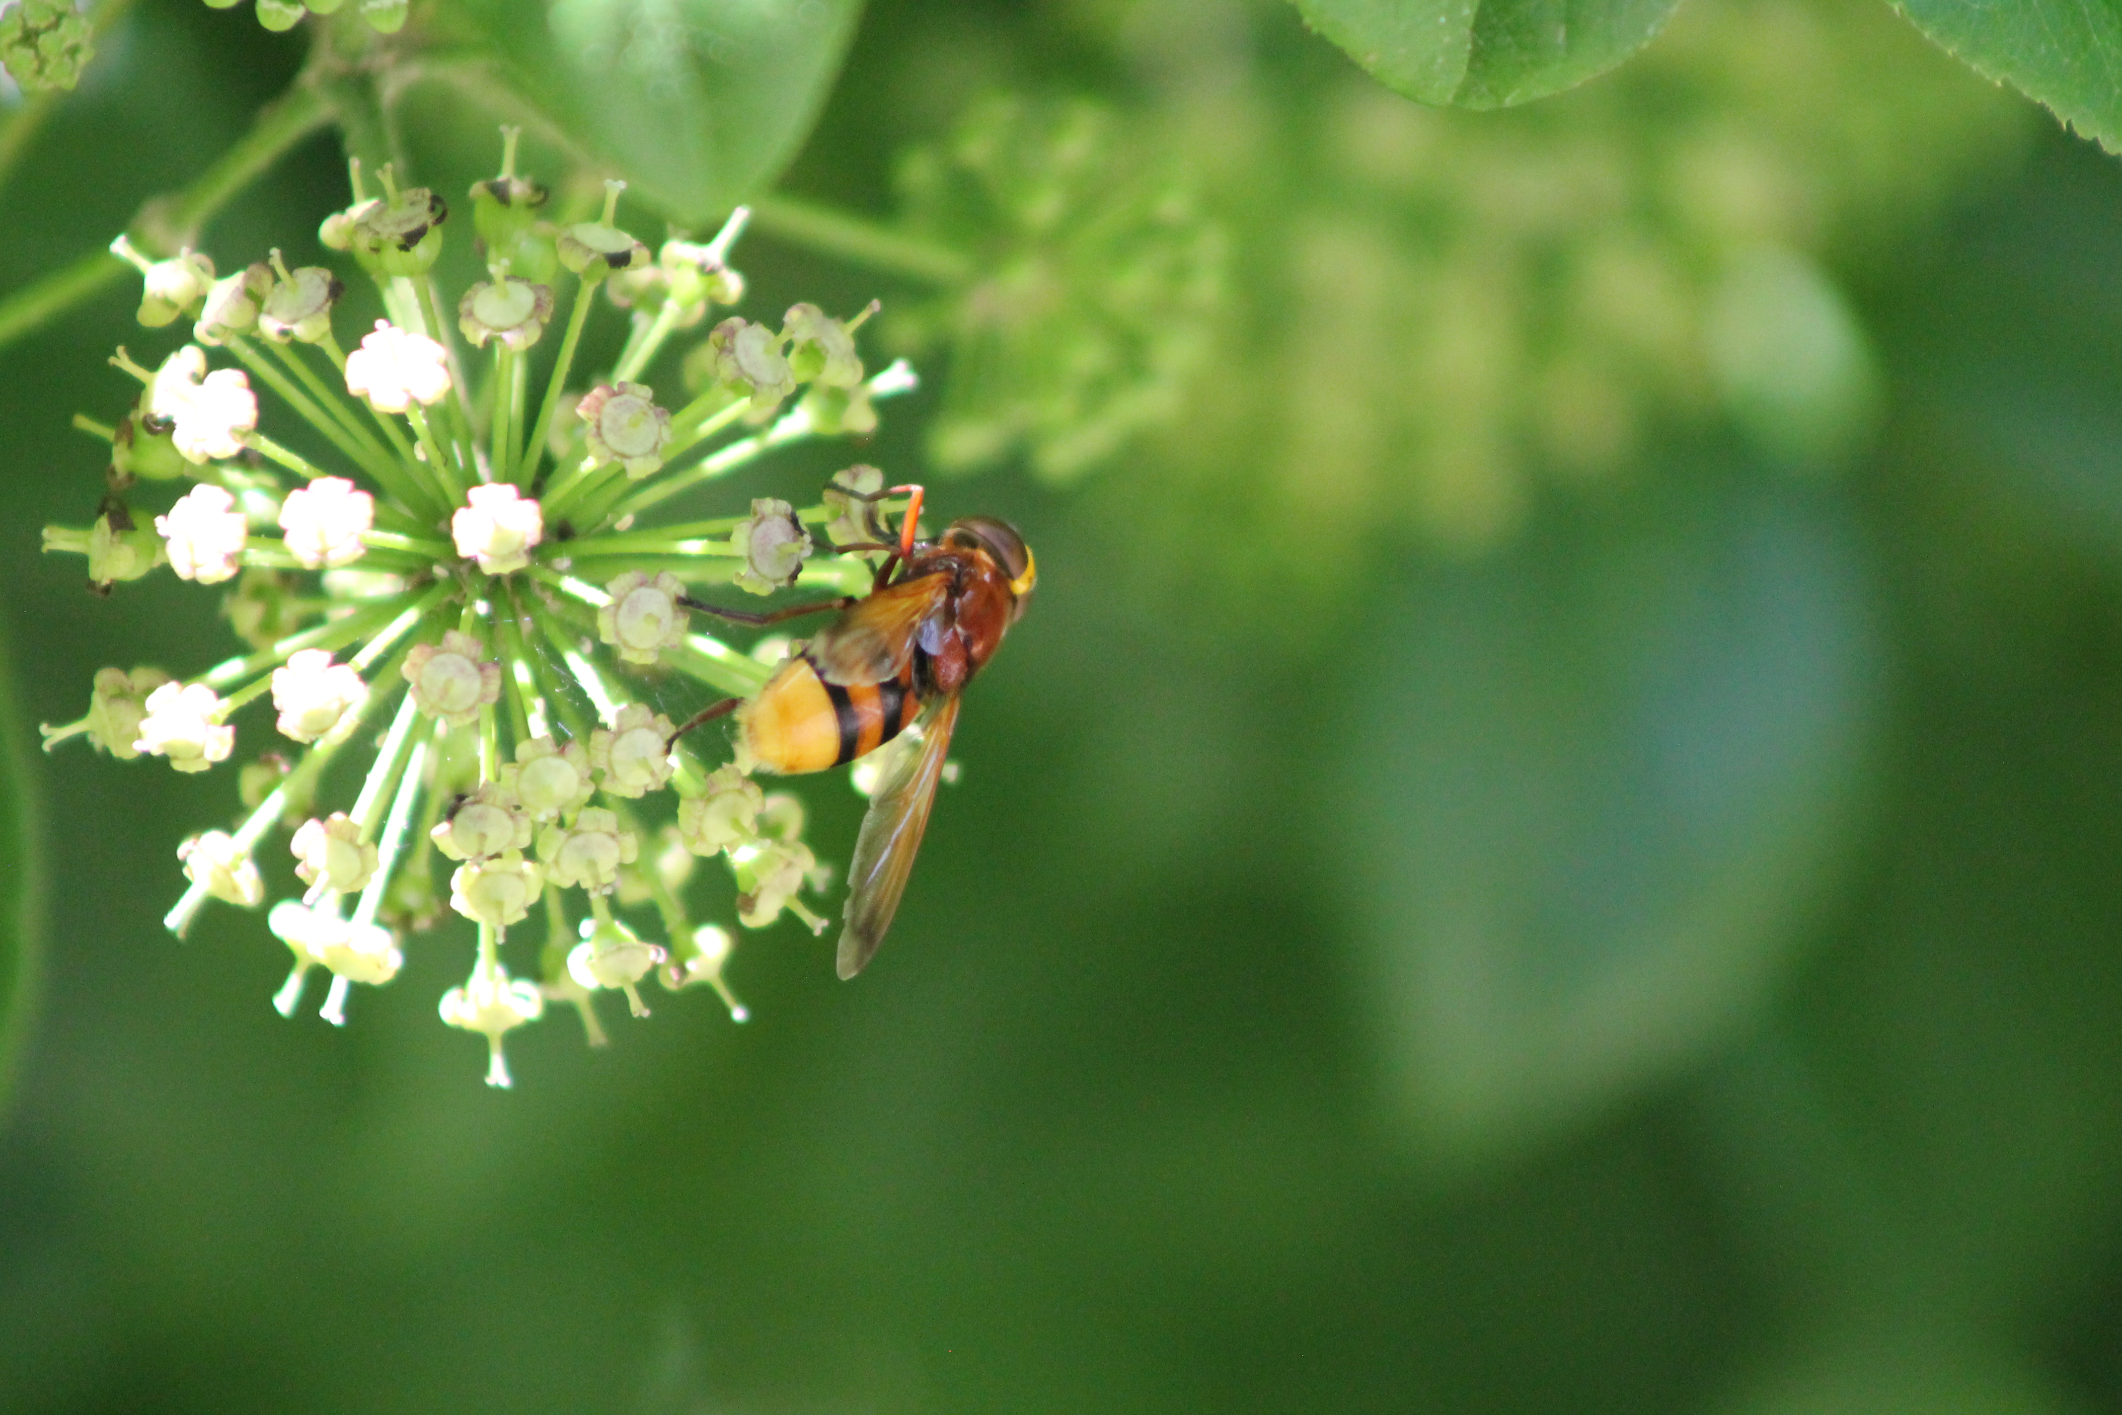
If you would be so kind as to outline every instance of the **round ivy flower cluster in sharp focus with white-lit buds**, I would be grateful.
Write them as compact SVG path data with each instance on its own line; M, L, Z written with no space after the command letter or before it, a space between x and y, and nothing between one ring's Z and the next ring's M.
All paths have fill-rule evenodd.
M153 367L119 350L136 403L115 424L76 418L110 443L102 503L85 526L45 528L45 549L83 556L100 594L161 571L223 586L246 643L193 677L100 670L87 713L45 728L47 751L83 738L204 772L238 759L253 704L244 736L276 738L240 766L236 829L176 849L189 887L170 931L210 899L280 893L265 927L293 965L274 1001L293 1014L323 974L323 1016L342 1023L354 984L390 982L410 938L463 914L477 950L439 1010L486 1037L494 1086L509 1084L505 1033L571 1003L598 1044L594 997L645 1014L651 976L711 986L743 1020L724 982L732 933L685 902L700 857L732 872L734 923L825 927L804 899L828 870L802 806L745 764L702 762L719 734L673 743L658 685L753 694L785 641L747 653L698 607L866 588L870 566L832 543L868 539L864 496L883 475L849 469L808 509L654 513L785 443L868 433L874 401L912 388L904 365L864 369L855 331L874 305L709 322L743 297L728 263L743 210L709 242L649 250L615 223L620 182L601 214L547 219L505 138L501 176L471 191L486 278L454 303L433 278L446 199L388 168L371 191L354 165L354 202L320 240L380 293L386 318L359 337L329 267L274 250L219 274L204 252L155 261L119 240L144 278L140 322L189 322L191 342ZM630 333L577 388L598 305L624 310ZM688 331L688 397L666 405L645 369ZM267 433L261 392L306 435Z

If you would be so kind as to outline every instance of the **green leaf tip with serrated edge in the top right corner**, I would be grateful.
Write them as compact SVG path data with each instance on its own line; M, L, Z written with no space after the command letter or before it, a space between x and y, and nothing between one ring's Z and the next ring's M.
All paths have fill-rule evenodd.
M1940 49L2122 151L2122 8L2107 0L1893 0Z

